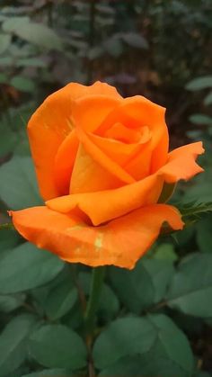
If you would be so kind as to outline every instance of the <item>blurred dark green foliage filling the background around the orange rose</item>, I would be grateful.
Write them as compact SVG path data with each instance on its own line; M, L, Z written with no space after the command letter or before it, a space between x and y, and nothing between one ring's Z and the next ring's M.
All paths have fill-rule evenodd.
M41 202L25 130L31 113L68 82L96 80L165 106L171 148L204 141L205 174L180 184L172 202L212 202L211 0L1 0L2 223L8 208ZM132 272L108 269L89 354L98 375L212 375L211 253L206 214L162 238ZM88 268L1 230L0 376L87 376L79 297L90 278Z

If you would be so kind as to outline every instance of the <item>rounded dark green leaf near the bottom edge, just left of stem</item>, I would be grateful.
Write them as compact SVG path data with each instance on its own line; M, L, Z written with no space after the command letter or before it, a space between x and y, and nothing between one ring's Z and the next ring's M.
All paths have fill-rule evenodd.
M86 348L81 337L63 325L47 325L37 329L30 339L30 353L50 368L83 368Z

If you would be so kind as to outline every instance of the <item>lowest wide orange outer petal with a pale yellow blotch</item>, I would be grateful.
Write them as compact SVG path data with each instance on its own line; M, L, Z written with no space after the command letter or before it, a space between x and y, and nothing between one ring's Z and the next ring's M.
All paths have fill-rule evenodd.
M11 213L22 236L67 262L84 265L117 265L131 269L154 243L163 222L182 229L180 213L172 206L155 204L110 221L101 227L77 223L47 207Z

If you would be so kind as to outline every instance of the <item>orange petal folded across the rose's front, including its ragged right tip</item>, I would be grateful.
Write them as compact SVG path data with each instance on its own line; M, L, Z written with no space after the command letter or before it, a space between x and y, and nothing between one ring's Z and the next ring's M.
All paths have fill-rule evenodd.
M63 213L78 207L89 216L94 225L99 225L157 202L164 181L174 183L201 172L202 168L196 164L195 159L203 151L201 142L189 144L173 150L167 165L159 169L155 175L149 175L141 181L115 190L66 195L48 201L47 205L50 209Z

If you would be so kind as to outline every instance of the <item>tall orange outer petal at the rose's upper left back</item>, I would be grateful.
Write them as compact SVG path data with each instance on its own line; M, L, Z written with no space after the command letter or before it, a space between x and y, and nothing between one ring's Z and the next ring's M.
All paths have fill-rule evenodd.
M114 87L107 84L97 82L91 86L84 86L71 83L49 95L29 121L31 154L36 167L40 193L45 200L60 194L60 187L58 190L54 178L54 160L59 146L73 130L74 123L71 118L73 105L78 98L86 95L102 96L110 106L111 103L117 103L122 98ZM70 166L68 169L70 170ZM61 170L64 170L64 166ZM57 174L63 175L63 172L58 172L57 168Z

